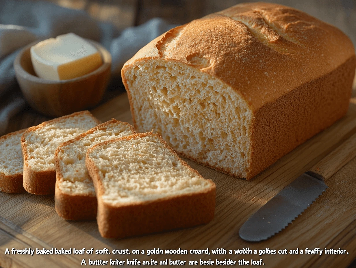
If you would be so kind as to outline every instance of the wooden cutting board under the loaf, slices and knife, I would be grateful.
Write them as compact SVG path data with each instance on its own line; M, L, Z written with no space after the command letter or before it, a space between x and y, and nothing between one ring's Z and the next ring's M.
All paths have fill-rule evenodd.
M94 109L101 121L115 118L131 123L126 94ZM216 183L215 218L207 225L156 233L124 240L101 238L95 221L65 221L54 210L53 196L6 194L0 192L1 267L80 267L88 259L139 259L156 261L263 259L263 267L347 267L356 258L356 158L328 181L329 189L292 224L271 239L249 243L238 236L241 225L278 191L307 171L321 158L356 132L356 101L347 115L333 126L284 156L265 172L247 182L232 178L192 161L188 163L206 179ZM222 254L203 255L4 255L11 248L77 249L346 249L349 254ZM159 263L159 262L158 262ZM236 266L238 263L235 264ZM109 264L108 264L109 266ZM185 264L188 266L188 263Z

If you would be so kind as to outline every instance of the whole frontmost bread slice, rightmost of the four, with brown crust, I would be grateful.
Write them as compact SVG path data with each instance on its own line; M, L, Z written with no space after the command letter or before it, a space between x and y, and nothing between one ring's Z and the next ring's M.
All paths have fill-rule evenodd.
M103 237L191 227L214 217L215 184L180 159L159 134L99 143L88 150L86 166Z

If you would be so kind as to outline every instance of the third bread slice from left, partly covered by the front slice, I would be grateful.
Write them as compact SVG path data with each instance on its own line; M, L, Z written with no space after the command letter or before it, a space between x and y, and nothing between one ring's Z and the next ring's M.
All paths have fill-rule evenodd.
M54 206L66 220L94 220L97 202L93 180L85 167L87 150L100 142L135 134L129 123L112 119L62 143L54 153Z

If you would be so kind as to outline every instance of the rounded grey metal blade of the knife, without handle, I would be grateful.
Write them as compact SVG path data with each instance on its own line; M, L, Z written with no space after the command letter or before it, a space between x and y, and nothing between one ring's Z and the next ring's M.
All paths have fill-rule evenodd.
M313 176L303 173L287 185L241 226L239 235L258 242L282 231L328 188Z

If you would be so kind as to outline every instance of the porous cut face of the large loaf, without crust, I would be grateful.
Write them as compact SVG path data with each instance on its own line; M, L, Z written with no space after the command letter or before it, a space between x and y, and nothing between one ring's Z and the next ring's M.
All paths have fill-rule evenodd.
M141 61L124 72L137 132L157 131L182 156L246 178L252 112L235 90L167 59Z

